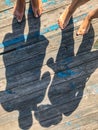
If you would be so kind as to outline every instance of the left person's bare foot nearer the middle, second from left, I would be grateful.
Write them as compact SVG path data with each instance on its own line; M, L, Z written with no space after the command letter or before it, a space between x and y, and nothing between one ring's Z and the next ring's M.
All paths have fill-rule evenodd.
M40 17L43 11L41 0L31 0L32 10L36 18Z

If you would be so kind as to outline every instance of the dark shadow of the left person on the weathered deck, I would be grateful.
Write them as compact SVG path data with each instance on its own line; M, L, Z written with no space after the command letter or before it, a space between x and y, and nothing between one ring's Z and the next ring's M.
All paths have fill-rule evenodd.
M24 36L25 21L22 24L14 21L15 19L12 22L13 32L6 34L4 41L11 35L15 36L17 28L18 33ZM22 38L20 47L3 54L6 90L0 92L2 107L7 112L15 110L19 112L19 127L23 130L33 125L32 111L37 110L37 104L43 100L50 82L49 72L40 78L48 40L40 35L40 18L32 17L31 6L28 13L28 26L27 38Z

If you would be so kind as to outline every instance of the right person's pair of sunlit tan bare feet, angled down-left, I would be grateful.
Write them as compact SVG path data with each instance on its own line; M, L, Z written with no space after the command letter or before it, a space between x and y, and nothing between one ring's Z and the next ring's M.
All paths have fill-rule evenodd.
M65 9L65 11L62 13L62 15L60 16L60 18L58 20L58 24L61 29L64 29L68 25L73 13L74 13L74 11L70 10L70 6L68 6ZM96 14L97 14L97 16L95 16ZM89 12L89 14L85 17L80 28L78 29L78 31L76 33L77 36L84 35L88 32L88 30L90 28L91 20L94 18L94 16L98 17L98 9Z

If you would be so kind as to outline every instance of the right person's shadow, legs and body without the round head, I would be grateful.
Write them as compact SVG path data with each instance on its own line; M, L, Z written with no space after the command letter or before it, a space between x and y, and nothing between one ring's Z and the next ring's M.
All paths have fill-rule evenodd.
M53 63L52 59L48 61L48 66L55 72L48 93L49 99L51 104L65 116L71 115L76 110L83 97L88 78L98 67L98 60L97 65L93 67L89 62L92 55L98 55L98 51L90 52L94 42L93 27L91 26L88 34L83 37L76 56L74 55L73 30L71 19L71 28L62 31L61 47L56 63Z

